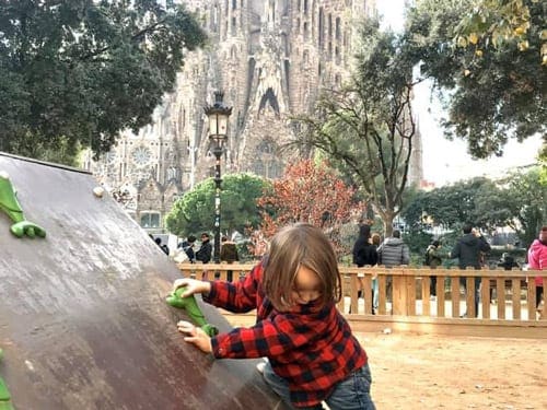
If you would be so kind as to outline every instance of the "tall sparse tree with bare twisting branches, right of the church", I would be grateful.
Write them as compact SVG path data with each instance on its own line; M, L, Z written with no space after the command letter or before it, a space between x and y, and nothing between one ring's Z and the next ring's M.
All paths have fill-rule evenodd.
M362 189L391 235L416 132L411 90L417 60L412 45L381 32L376 20L363 23L360 39L350 82L325 93L313 116L298 118L305 132L295 143L324 152Z

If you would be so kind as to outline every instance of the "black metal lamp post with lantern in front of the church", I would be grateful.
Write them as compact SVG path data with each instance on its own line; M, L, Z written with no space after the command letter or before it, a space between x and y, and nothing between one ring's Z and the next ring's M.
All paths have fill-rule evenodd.
M224 93L214 93L214 104L207 105L205 113L209 118L209 140L211 142L214 163L214 263L220 263L220 191L222 178L220 177L220 159L224 153L224 144L228 141L228 119L232 114L232 107L226 107L222 102Z

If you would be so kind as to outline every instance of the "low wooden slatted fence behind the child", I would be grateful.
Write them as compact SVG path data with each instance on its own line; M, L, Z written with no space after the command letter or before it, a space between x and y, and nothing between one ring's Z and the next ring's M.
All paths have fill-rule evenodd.
M225 280L228 271L232 271L235 281L245 277L253 266L181 263L178 267L184 277L210 280ZM534 281L536 276L543 274L543 281L547 284L547 271L346 266L339 269L344 278L344 297L338 308L357 330L547 338L547 309L540 318L536 311ZM379 292L374 315L373 277L377 280ZM431 277L437 277L435 297L430 294ZM475 280L480 282L477 295ZM360 298L359 290L362 290ZM491 294L494 294L493 298ZM244 317L234 316L232 319L236 325L246 324ZM254 316L251 323L253 319Z

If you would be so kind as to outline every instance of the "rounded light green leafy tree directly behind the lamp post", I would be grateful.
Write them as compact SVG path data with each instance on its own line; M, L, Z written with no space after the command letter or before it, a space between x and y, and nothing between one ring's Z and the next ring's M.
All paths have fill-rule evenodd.
M229 174L222 178L221 232L245 232L260 224L257 200L269 183L252 174ZM175 202L165 218L167 230L178 236L210 232L214 221L213 178L208 178Z

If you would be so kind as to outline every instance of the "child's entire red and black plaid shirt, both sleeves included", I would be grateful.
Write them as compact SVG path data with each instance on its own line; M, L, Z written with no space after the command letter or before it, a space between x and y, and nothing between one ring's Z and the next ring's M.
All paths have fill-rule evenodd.
M324 308L310 303L278 312L265 297L261 276L263 267L257 265L243 281L211 281L211 292L203 295L206 302L230 312L257 309L252 328L235 328L211 339L213 355L267 356L276 374L289 383L292 403L315 406L366 363L366 353L334 303Z

